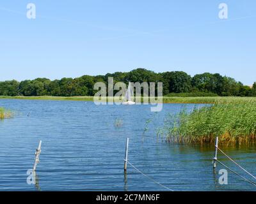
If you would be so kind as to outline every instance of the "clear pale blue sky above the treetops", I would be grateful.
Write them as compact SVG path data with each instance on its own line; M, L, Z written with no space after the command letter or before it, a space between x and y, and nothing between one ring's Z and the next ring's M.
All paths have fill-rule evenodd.
M26 5L36 4L36 19ZM228 4L228 20L218 5ZM0 80L156 72L256 81L256 1L5 0Z

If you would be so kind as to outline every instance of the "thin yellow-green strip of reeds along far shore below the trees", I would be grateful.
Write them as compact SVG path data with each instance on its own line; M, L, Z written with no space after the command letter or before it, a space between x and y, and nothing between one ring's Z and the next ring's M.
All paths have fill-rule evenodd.
M0 99L28 99L28 100L52 100L52 101L93 101L93 96L0 96ZM108 100L108 99L106 99ZM254 101L256 103L255 97L221 97L221 96L211 96L211 97L172 97L163 96L163 103L204 103L204 104L214 104L214 103L246 103L246 101ZM141 97L141 101L143 98ZM161 99L159 98L159 101Z

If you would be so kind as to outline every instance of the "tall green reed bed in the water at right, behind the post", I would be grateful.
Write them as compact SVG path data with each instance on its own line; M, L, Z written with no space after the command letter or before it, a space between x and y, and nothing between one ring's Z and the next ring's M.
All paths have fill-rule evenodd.
M203 108L195 107L192 112L184 108L179 114L166 117L157 135L174 143L214 143L216 136L225 145L254 143L255 98L216 101Z

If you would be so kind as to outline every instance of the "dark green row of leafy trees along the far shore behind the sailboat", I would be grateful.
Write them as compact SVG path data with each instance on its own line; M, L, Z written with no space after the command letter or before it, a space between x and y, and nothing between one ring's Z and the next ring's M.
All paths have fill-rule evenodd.
M184 71L155 73L143 68L129 72L115 72L106 75L49 80L16 80L0 82L0 96L93 96L96 82L108 84L108 77L114 82L163 82L164 96L256 96L256 82L253 87L243 85L234 78L218 73L203 73L191 77Z

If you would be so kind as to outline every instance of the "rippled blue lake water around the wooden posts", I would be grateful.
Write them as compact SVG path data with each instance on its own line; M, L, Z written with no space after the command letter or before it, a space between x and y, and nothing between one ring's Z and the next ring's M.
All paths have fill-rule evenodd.
M0 100L15 110L0 121L0 191L166 191L128 165L124 177L125 140L129 161L148 177L174 191L255 191L256 187L228 173L228 185L212 172L214 147L177 145L157 140L156 129L180 104L164 104L159 113L150 105L100 105L84 101ZM191 110L195 105L186 105ZM122 120L118 127L115 121ZM147 124L147 120L152 121ZM145 131L147 129L147 131ZM145 131L145 132L144 132ZM144 132L144 133L143 133ZM36 185L27 184L35 150L42 140ZM255 147L224 149L255 173ZM227 158L220 161L246 176Z

